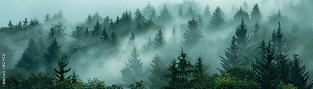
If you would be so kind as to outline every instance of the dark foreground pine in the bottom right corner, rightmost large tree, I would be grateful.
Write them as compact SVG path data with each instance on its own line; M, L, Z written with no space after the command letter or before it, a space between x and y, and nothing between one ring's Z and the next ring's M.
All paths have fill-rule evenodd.
M305 72L306 66L300 66L300 63L302 63L302 60L300 61L300 57L298 58L298 54L292 54L293 55L293 62L291 66L291 79L292 80L290 83L293 84L294 86L297 86L298 88L301 89L311 89L313 86L313 80L310 82L308 81L310 75L309 71Z

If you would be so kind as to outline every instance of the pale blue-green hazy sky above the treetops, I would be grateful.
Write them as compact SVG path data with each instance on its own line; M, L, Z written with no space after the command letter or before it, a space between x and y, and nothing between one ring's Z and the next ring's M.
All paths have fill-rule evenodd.
M151 4L157 8L161 2L180 3L182 0L151 0ZM195 0L199 2L202 9L206 4L211 7L213 12L216 6L220 6L225 11L229 12L231 6L242 6L244 0ZM249 9L254 3L259 3L261 0L247 0ZM274 2L275 0L269 0ZM289 0L279 0L289 1ZM295 0L293 0L295 1ZM298 0L297 0L298 1ZM124 3L122 3L124 2ZM148 0L1 0L0 1L0 27L7 26L8 21L12 20L13 24L17 24L18 20L37 18L39 22L43 22L44 16L49 13L53 16L60 9L63 11L64 17L68 21L84 21L88 14L93 15L98 11L102 17L109 15L115 17L121 15L126 9L135 11L136 8L142 9ZM120 4L121 3L121 4ZM122 5L119 7L119 5ZM111 15L112 10L117 10L116 14ZM159 10L157 10L159 11ZM201 11L202 12L202 11Z

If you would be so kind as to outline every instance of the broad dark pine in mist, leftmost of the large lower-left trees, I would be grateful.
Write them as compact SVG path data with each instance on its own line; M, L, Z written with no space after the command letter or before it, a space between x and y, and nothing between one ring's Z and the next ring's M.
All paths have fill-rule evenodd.
M27 47L25 48L25 51L22 54L22 58L18 60L16 66L24 67L26 70L36 68L36 65L34 64L36 60L34 60L34 58L39 54L38 52L39 51L37 43L33 38L30 38Z

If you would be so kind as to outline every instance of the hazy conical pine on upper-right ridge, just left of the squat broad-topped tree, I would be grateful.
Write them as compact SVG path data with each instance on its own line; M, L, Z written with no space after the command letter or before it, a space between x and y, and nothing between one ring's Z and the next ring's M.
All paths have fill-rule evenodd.
M213 29L219 29L225 24L224 18L221 16L222 15L221 13L222 13L221 7L217 6L210 20L210 26Z

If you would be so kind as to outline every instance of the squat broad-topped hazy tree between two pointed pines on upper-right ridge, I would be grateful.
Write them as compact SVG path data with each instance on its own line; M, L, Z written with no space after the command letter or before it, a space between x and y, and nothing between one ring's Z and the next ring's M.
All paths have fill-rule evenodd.
M249 14L248 14L247 12L243 11L243 10L241 9L241 7L240 7L240 8L239 8L239 11L237 11L237 13L233 16L233 19L234 19L235 21L240 21L242 18L243 18L244 21L246 21L246 22L249 22L249 21L250 21L250 19L249 19Z

